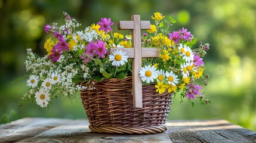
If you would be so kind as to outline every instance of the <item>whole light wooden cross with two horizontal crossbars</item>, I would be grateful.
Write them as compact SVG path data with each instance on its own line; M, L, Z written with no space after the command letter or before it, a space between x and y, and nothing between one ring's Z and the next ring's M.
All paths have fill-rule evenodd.
M141 58L159 57L158 48L141 48L141 29L150 29L150 21L140 21L140 15L132 15L132 21L119 21L118 30L132 30L132 47L134 48L110 48L108 53L121 49L127 52L132 61L132 95L134 108L142 108L142 81L140 77Z

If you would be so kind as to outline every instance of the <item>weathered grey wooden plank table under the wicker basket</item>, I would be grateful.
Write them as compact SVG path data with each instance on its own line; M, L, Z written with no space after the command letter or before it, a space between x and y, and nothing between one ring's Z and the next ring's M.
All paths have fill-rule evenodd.
M150 135L91 133L88 120L24 118L0 126L0 142L256 142L256 132L226 120L169 120Z

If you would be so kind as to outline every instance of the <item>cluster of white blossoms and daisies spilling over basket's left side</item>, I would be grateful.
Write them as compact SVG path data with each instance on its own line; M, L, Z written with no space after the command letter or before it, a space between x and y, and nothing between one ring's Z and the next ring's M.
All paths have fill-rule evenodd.
M30 72L27 79L27 86L30 89L23 98L35 98L36 104L47 107L50 99L55 98L54 95L64 95L72 101L78 91L91 89L73 82L80 72L83 73L84 79L89 79L90 69L84 64L82 66L76 66L76 63L68 64L68 59L71 58L72 55L69 54L66 58L60 58L59 64L53 64L47 60L47 57L40 58L33 54L31 49L27 49L25 65L26 70Z

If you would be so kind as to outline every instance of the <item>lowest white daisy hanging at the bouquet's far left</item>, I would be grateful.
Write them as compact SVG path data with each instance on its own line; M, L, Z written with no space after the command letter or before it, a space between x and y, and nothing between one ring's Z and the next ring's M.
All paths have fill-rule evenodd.
M38 92L35 93L36 104L40 105L40 107L47 107L48 101L50 101L49 91L44 91L44 89L39 89Z

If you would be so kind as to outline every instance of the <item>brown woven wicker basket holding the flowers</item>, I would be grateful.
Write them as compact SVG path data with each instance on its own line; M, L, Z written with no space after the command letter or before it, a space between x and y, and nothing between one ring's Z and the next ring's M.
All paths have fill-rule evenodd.
M143 85L143 108L133 108L132 76L95 82L93 91L81 92L91 132L165 132L172 94L158 94L155 90L155 85Z

